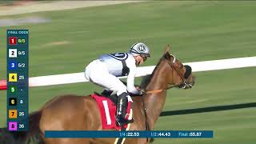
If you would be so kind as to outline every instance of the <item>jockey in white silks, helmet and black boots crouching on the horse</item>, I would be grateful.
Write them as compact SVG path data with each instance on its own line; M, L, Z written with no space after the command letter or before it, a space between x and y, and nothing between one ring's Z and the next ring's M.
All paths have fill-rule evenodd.
M128 53L102 54L86 66L85 76L90 82L106 90L114 90L118 95L116 123L123 126L130 121L126 118L128 97L130 94L142 95L142 90L134 87L136 66L142 65L150 57L149 48L142 42L134 43ZM127 76L127 86L117 77Z

